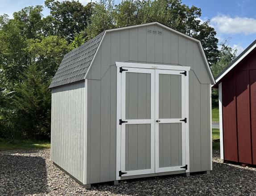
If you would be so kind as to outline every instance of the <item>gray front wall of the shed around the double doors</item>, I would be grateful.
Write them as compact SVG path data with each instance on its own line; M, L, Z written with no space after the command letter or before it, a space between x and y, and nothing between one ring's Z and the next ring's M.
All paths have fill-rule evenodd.
M87 183L116 180L116 61L191 67L190 171L210 170L211 80L202 54L196 42L156 24L106 33L87 74Z

